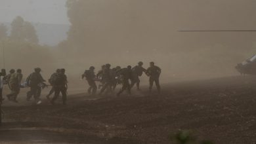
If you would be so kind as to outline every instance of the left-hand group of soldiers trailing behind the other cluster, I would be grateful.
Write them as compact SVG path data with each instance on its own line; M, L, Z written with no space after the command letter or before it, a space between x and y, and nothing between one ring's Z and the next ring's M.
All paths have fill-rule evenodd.
M27 100L33 97L37 104L41 103L40 96L42 88L45 88L47 84L45 84L45 79L43 79L41 75L41 69L39 67L35 68L35 71L31 73L26 82L22 83L22 71L21 69L10 70L10 73L3 78L4 84L8 84L11 94L7 94L7 98L10 101L18 102L16 100L18 94L20 93L20 88L22 87L30 87L30 91L27 92ZM56 73L51 75L49 79L49 83L51 84L52 89L47 95L47 99L54 104L54 101L62 93L62 101L63 104L66 105L66 90L67 90L67 77L65 75L65 69L57 69ZM51 99L50 96L54 92L54 97Z

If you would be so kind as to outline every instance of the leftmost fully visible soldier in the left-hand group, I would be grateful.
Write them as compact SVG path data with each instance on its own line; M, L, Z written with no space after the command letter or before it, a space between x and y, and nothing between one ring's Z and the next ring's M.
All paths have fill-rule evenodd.
M11 94L7 95L7 98L10 101L14 101L16 103L18 103L18 101L16 100L18 94L20 93L20 84L22 81L22 70L21 69L17 69L16 73L12 73L10 75L10 79L9 79L9 86L11 88Z

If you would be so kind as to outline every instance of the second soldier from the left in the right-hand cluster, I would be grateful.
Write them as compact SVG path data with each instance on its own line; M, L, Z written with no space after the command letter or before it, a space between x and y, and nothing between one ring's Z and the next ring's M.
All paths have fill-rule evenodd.
M106 90L106 94L108 94L109 92L112 92L112 88L111 88L111 69L110 69L111 65L108 63L106 64L105 69L103 70L102 73L102 83L104 84L102 86L102 89L100 90L100 94L102 94L105 90Z

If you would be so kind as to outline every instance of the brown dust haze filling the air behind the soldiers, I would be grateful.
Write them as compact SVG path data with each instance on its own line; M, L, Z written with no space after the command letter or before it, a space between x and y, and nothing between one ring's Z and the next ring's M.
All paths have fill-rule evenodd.
M7 41L6 67L20 67L25 73L42 67L45 77L64 67L68 75L79 77L91 65L98 70L104 63L126 67L142 61L148 67L154 61L163 70L163 82L237 75L234 65L255 53L255 32L178 30L254 29L255 5L249 0L69 0L68 39L54 47L40 46L47 52L38 54L32 44L14 45L12 50L24 49L12 52Z

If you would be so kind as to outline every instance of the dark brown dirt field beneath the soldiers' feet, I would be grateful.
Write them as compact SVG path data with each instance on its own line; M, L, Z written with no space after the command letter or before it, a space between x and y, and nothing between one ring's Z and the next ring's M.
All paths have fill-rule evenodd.
M192 130L215 143L256 143L256 77L226 77L162 85L162 94L91 97L72 89L68 105L5 101L0 143L173 143ZM26 91L26 90L23 90ZM47 90L45 90L47 92ZM61 100L61 99L60 99Z

